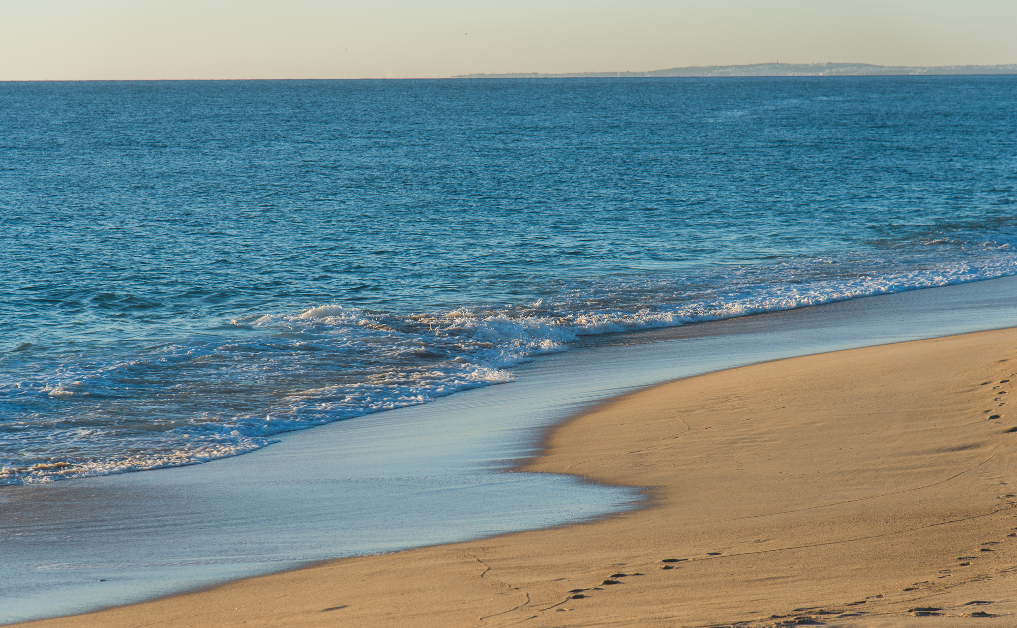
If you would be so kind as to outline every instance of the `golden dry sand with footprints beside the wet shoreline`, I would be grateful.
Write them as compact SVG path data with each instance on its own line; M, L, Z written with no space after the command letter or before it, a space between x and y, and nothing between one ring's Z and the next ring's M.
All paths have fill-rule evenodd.
M525 467L646 509L23 625L1014 626L1011 378L1017 329L654 386Z

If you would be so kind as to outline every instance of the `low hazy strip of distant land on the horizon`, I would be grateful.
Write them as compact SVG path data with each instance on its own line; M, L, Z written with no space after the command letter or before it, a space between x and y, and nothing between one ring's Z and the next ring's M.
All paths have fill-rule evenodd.
M906 76L917 74L1017 74L1017 63L1006 65L873 65L871 63L755 63L705 65L649 72L575 72L571 74L463 74L455 78L599 78L653 76Z

